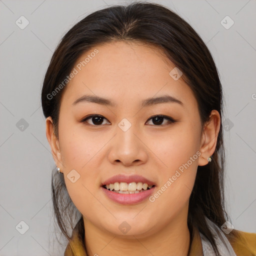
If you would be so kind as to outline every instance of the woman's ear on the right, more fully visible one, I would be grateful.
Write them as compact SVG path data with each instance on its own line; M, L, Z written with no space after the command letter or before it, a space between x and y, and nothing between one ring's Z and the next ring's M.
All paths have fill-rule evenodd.
M204 125L200 149L198 165L203 166L208 163L208 157L213 154L217 144L218 132L220 129L220 115L217 110L211 110L210 120Z

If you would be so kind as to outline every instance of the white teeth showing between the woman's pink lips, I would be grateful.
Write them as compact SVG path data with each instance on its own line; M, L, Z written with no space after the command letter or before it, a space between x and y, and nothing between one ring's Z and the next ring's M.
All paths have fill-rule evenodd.
M139 193L142 189L150 189L152 188L153 185L147 185L147 183L142 183L142 182L114 182L113 184L106 184L105 187L108 190L112 190L117 193L122 193L122 194L133 194L133 193Z

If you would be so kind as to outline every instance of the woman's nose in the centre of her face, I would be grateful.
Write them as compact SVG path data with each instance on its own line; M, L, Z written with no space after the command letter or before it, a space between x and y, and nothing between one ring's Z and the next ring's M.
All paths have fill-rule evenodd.
M112 164L117 162L125 166L140 165L147 160L146 145L143 143L141 133L135 130L135 125L123 131L117 126L116 135L110 143L108 159Z

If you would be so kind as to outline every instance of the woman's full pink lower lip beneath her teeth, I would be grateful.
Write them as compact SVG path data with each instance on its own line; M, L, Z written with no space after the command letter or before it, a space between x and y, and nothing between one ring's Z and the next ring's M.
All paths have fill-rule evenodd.
M134 194L120 194L120 193L116 193L111 190L105 189L102 186L100 187L100 189L105 193L105 195L109 199L121 204L134 204L134 203L142 202L153 193L154 188L155 186L153 186L150 189L144 190L139 193L134 193Z

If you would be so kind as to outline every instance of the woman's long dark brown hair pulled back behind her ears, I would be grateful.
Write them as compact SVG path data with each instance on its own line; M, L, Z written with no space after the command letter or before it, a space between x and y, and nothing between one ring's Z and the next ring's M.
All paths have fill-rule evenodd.
M218 71L200 36L184 19L168 8L156 3L134 2L129 5L113 5L89 14L62 37L55 49L45 73L41 104L44 116L52 117L57 138L60 99L68 83L54 97L49 99L47 95L69 75L81 54L96 45L111 41L137 41L162 49L182 71L183 79L193 91L202 127L209 120L212 109L216 109L222 116L222 88ZM222 124L211 158L210 163L197 168L189 198L187 223L190 235L193 227L197 226L210 241L216 255L220 255L205 217L219 227L228 218L224 208ZM68 195L63 175L55 169L52 171L51 186L55 217L59 228L69 240L68 228L73 228L73 216L80 213ZM82 220L79 232L84 237ZM229 234L233 238L236 235L235 230Z

